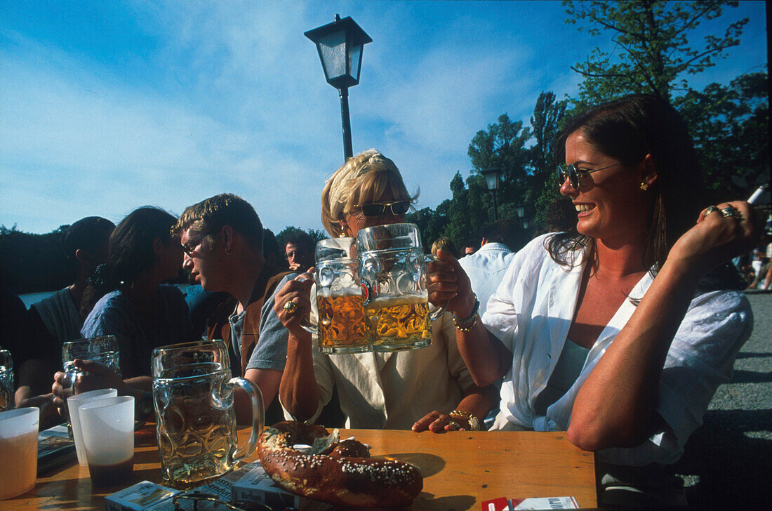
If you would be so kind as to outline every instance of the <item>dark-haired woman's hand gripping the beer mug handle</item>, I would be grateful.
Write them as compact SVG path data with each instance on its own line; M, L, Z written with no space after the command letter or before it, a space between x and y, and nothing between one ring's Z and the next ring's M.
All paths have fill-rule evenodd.
M429 301L459 317L468 317L475 306L469 277L449 252L438 250L437 259L428 265Z

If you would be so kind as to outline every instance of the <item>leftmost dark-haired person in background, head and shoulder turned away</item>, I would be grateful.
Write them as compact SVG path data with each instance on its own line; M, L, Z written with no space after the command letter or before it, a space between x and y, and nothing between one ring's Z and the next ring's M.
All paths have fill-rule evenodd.
M69 261L76 263L75 281L46 299L32 304L51 335L63 343L80 339L86 315L81 311L86 279L107 260L107 240L115 225L107 218L88 216L70 225L62 245Z

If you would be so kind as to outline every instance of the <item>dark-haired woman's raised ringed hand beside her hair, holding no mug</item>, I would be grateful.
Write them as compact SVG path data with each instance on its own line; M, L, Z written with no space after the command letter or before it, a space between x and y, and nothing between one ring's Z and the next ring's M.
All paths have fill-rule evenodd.
M703 209L697 223L675 242L669 262L682 262L705 274L710 269L753 249L764 218L745 201L722 202Z

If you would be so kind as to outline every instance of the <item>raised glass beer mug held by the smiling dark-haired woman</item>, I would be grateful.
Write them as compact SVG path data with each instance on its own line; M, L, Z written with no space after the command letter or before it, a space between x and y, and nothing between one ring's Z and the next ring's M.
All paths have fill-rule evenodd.
M376 225L357 234L364 317L375 351L417 349L432 343L426 289L430 255L414 224Z

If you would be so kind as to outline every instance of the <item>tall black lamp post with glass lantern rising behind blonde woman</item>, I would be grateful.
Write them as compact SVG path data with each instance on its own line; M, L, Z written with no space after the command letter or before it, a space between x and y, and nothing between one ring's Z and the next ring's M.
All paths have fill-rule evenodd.
M348 116L348 88L359 83L362 47L373 42L350 17L340 19L304 34L317 45L327 83L340 93L340 119L343 123L344 161L354 156L351 148L351 121Z

